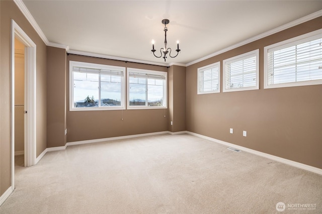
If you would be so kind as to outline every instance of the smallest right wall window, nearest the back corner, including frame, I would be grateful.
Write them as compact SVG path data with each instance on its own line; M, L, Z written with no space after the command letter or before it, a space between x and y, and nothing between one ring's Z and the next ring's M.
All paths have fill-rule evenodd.
M220 92L220 62L198 68L197 78L197 94Z

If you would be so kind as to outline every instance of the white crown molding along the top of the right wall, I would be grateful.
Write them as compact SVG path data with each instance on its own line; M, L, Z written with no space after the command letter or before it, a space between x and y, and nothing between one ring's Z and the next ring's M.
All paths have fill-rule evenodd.
M201 57L201 58L199 58L199 59L196 59L196 60L194 60L194 61L192 61L192 62L187 63L187 64L186 64L186 67L188 67L188 66L190 66L190 65L193 65L193 64L195 64L195 63L197 63L197 62L201 62L201 61L203 61L203 60L209 59L209 58L211 58L211 57L217 56L217 55L222 54L222 53L224 53L224 52L230 51L230 50L232 50L232 49L234 49L234 48L238 48L238 47L240 47L240 46L246 45L246 44L248 44L248 43L254 42L254 41L256 41L256 40L259 40L259 39L262 39L262 38L264 38L264 37L270 36L270 35L272 35L272 34L278 33L278 32L280 32L280 31L286 30L286 29L288 29L288 28L294 27L294 26L296 26L296 25L302 24L302 23L304 23L304 22L310 21L310 20L312 20L312 19L318 18L318 17L320 17L320 16L322 16L322 10L317 11L317 12L315 12L315 13L312 13L312 14L310 14L310 15L307 15L307 16L305 16L305 17L302 17L302 18L300 18L300 19L294 20L294 21L289 22L289 23L287 23L287 24L285 24L285 25L282 25L282 26L280 26L280 27L274 28L274 29L272 29L272 30L270 30L270 31L267 31L267 32L262 33L262 34L257 35L257 36L254 36L254 37L249 38L249 39L247 39L247 40L244 40L244 41L242 41L242 42L239 42L239 43L234 44L234 45L232 45L232 46L229 46L229 47L227 47L227 48L221 49L221 50L219 50L219 51L217 51L217 52L214 52L214 53L212 53L212 54L209 54L209 55L207 55L207 56L204 56L204 57Z

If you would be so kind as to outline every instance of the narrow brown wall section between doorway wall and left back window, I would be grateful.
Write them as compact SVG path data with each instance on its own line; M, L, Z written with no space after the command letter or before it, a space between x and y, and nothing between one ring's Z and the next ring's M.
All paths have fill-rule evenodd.
M66 50L47 47L47 147L65 146Z

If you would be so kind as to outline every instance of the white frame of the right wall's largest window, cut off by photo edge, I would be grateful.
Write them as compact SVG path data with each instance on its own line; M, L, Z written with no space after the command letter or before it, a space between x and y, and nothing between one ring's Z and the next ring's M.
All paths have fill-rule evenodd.
M279 88L279 87L293 87L293 86L304 86L304 85L317 85L322 84L322 79L319 80L307 80L298 82L287 82L287 83L273 83L269 84L269 53L280 49L299 45L308 41L312 41L318 38L322 38L322 29L312 31L301 36L297 36L288 40L284 40L269 46L264 47L264 88ZM321 70L322 72L322 70Z

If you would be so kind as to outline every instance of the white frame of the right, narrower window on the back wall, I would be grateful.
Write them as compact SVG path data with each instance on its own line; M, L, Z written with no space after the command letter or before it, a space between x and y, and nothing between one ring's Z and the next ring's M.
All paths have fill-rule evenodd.
M145 70L145 69L137 69L137 68L127 68L126 69L126 80L127 80L127 101L126 106L128 110L139 110L139 109L167 109L168 108L168 73L164 71L154 71L154 70ZM163 106L147 106L147 105L130 105L130 81L129 81L129 73L142 73L142 74L152 74L152 75L162 75L165 76L165 84L164 84L164 104ZM146 91L147 94L147 91ZM147 95L145 95L147 96Z

